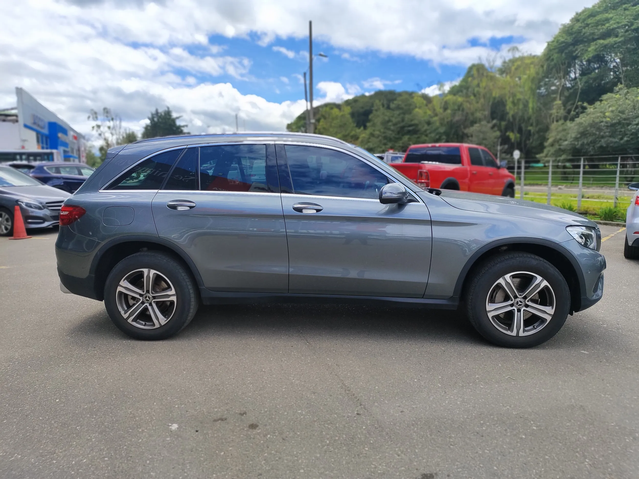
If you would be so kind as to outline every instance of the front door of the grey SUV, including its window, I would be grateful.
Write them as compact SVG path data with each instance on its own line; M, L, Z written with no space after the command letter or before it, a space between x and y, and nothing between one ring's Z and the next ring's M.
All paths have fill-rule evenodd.
M424 295L431 261L424 204L381 204L389 178L343 151L279 145L277 162L289 293Z

